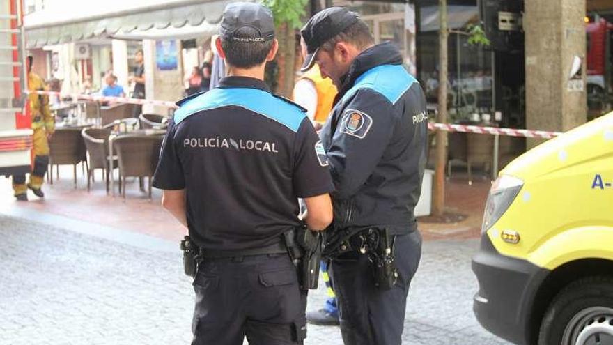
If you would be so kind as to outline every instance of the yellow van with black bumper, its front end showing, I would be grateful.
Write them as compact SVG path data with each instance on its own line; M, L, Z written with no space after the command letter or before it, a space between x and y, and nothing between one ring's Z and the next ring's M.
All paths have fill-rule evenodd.
M474 313L515 344L613 344L613 112L537 146L492 185Z

